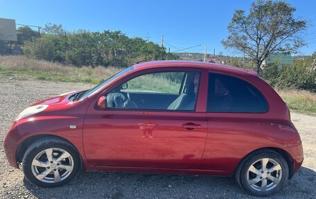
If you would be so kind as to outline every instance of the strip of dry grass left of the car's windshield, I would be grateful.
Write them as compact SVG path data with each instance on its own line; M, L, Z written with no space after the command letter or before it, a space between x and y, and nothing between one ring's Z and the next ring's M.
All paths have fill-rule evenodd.
M98 84L118 71L114 67L73 67L22 55L0 56L0 73L19 73L40 80Z

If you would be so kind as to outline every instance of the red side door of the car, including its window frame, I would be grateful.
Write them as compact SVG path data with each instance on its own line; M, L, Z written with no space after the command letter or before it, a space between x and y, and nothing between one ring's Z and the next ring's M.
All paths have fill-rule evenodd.
M207 81L205 71L168 68L133 73L124 82L116 83L105 96L111 98L119 92L117 95L124 97L130 93L130 105L96 110L97 98L91 103L83 129L88 161L101 167L195 168L202 158L207 137L207 84L204 81ZM129 89L120 90L125 82ZM187 101L182 106L185 102L177 102L177 99L189 98L185 88L188 83L194 84L194 104ZM137 94L137 100L141 95L146 96L146 104L134 105L132 96ZM165 105L159 94L177 98Z

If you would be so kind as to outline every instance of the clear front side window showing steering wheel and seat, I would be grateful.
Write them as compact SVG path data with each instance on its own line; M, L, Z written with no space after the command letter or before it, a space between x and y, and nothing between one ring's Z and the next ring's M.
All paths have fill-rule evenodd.
M132 78L107 94L107 107L120 110L193 111L200 72L163 71Z

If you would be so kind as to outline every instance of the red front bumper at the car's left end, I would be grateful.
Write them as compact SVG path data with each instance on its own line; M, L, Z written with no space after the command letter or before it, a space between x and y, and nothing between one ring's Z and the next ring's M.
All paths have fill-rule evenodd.
M17 159L15 157L15 150L17 148L17 142L19 141L19 137L20 136L17 130L17 126L13 124L3 141L3 147L8 162L11 166L15 168L19 168L19 165L17 164Z

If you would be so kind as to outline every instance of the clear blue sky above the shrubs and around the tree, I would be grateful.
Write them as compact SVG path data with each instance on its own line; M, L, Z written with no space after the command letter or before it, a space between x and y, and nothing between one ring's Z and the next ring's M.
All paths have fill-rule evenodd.
M296 19L308 21L304 39L308 46L299 49L299 55L316 51L316 1L288 0L297 8ZM142 37L157 44L164 35L164 46L170 52L207 52L240 56L225 49L221 40L228 35L227 25L234 10L249 10L252 1L16 1L0 0L0 18L15 19L17 24L44 26L62 24L67 31L121 31L129 37ZM18 26L17 26L18 27ZM198 46L200 45L200 46ZM183 52L183 51L179 51Z

